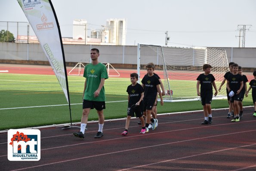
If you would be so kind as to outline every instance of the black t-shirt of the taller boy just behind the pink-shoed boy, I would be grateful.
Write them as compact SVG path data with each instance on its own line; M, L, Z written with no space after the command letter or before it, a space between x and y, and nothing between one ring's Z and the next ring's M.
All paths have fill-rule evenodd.
M144 98L157 97L157 85L160 84L157 76L145 75L142 79L142 84L144 84Z

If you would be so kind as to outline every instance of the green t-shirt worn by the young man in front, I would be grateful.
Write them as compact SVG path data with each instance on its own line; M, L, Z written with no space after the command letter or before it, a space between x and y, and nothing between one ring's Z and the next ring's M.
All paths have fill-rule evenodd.
M86 89L83 99L88 101L105 101L104 86L100 90L98 97L94 97L94 92L99 88L100 80L102 78L108 79L106 66L102 63L96 65L91 63L87 64L84 68L83 77L86 78Z

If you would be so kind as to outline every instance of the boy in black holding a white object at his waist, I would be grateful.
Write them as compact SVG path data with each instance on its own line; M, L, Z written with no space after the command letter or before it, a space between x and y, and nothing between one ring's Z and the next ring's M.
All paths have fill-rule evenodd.
M232 119L231 122L239 122L240 116L238 101L241 98L241 90L244 87L244 83L242 76L237 73L238 64L232 65L232 71L233 73L231 73L227 79L228 92L234 92L234 96L230 97L230 104L233 105L234 110L234 119Z

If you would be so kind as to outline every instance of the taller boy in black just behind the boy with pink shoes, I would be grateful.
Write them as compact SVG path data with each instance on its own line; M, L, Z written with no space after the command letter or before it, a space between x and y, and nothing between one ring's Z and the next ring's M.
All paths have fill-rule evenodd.
M143 98L143 113L146 116L146 132L148 132L148 126L150 121L152 122L152 130L156 127L156 119L151 119L151 110L154 105L156 105L156 98L158 97L157 92L160 96L160 103L163 105L163 98L160 89L160 82L158 78L154 75L154 64L148 63L146 65L147 75L142 79L142 87L144 89L144 98Z

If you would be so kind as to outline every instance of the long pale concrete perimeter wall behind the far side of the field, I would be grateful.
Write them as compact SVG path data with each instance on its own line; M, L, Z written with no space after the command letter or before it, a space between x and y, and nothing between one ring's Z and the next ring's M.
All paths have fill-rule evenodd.
M100 50L99 61L110 64L137 64L137 46L99 46L99 45L64 45L66 62L90 62L90 49ZM256 48L230 48L225 49L228 62L235 62L243 68L256 68ZM9 60L19 61L48 61L38 43L5 43L0 42L0 62ZM157 63L154 56L148 61ZM148 62L147 61L147 62Z

